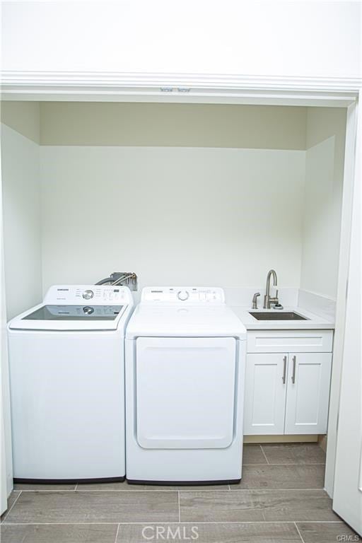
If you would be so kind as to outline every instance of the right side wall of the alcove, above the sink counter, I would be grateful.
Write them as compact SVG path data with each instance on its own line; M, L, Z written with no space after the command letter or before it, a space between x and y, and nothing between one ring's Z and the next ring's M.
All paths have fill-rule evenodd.
M300 288L335 299L339 269L346 110L307 111Z

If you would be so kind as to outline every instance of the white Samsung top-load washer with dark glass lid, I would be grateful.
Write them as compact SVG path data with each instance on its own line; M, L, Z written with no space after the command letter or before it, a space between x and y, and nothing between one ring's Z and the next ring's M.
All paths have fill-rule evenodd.
M124 286L59 285L8 324L16 481L122 480Z

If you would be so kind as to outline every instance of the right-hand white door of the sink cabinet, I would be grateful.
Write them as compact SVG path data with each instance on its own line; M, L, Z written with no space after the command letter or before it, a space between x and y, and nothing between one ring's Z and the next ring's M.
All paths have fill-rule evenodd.
M326 433L332 353L289 354L284 433Z

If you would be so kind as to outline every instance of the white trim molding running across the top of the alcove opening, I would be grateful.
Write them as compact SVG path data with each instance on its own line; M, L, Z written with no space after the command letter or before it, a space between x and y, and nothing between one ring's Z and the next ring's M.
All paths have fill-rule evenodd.
M102 100L174 103L354 103L361 78L162 74L81 71L3 71L4 100Z

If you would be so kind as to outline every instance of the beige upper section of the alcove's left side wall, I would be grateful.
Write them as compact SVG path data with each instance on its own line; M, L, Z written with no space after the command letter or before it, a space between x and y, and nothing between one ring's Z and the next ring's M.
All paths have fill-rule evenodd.
M40 142L39 102L1 101L0 113L1 122L35 143Z

